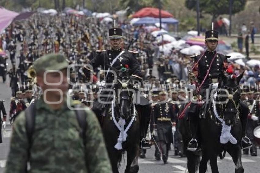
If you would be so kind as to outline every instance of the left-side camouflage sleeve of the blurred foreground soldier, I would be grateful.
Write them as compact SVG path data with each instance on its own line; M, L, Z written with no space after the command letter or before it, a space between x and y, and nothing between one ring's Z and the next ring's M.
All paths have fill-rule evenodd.
M21 112L13 124L13 133L5 173L20 173L25 171L28 160L28 146L25 129L25 113Z

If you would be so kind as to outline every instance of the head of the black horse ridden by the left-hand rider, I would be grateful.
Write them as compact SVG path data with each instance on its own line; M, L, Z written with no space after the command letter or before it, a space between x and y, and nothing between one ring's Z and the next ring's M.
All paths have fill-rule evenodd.
M137 67L136 67L137 68ZM114 83L113 89L116 92L116 103L119 109L120 117L127 120L131 115L131 107L133 103L133 79L132 74L136 70L121 68L117 70L110 66L117 74L117 79Z

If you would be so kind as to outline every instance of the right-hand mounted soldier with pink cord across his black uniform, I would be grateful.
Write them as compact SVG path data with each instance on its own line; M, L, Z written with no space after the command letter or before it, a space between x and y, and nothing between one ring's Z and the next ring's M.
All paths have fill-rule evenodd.
M195 80L192 80L192 85L190 85L190 89L195 91L195 94L198 96L197 100L206 99L206 91L209 90L210 84L218 83L220 79L221 72L225 72L228 67L227 58L229 56L225 56L223 54L217 53L216 48L218 45L218 32L214 30L206 31L205 35L205 45L207 46L207 50L193 57L194 65L192 70L192 75L195 75ZM191 74L189 74L191 76ZM210 93L210 91L209 91ZM195 99L196 100L196 99ZM187 106L187 105L186 105ZM188 150L197 151L198 150L198 137L196 136L196 126L197 126L197 116L205 114L207 104L197 104L191 102L189 105L188 113L191 135L192 139L188 144ZM251 147L250 140L245 137L246 125L247 125L247 115L248 115L248 107L245 105L243 101L240 100L240 121L242 124L242 148ZM184 111L182 112L184 113ZM181 114L182 114L181 113ZM199 114L198 114L199 113ZM180 115L181 116L181 115Z

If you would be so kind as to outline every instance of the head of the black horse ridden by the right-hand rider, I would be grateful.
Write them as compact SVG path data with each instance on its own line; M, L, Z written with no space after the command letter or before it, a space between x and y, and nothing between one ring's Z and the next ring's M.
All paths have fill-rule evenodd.
M220 101L225 101L224 104L221 104L221 110L223 111L225 124L228 126L234 125L238 120L239 100L241 94L239 82L243 77L243 73L238 77L235 75L226 76L224 73L221 73L221 81L219 83L221 91L219 91L218 94L226 95L223 97L221 96Z

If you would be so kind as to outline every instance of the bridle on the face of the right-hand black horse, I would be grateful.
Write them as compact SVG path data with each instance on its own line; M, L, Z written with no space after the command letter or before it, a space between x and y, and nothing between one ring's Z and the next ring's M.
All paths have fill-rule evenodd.
M221 115L223 117L223 120L225 118L224 109L225 109L225 112L234 112L234 113L236 113L235 123L237 123L237 120L239 119L239 106L240 106L240 104L239 104L239 101L236 104L236 102L234 100L234 95L237 94L237 92L239 91L240 87L239 87L239 85L237 85L236 87L228 87L228 86L224 85L224 83L222 82L221 87L219 88L219 90L217 92L218 93L221 92L220 90L223 89L223 88L226 90L226 92L228 94L228 101L225 103L225 106L223 106L224 104L221 104L221 106L220 106L221 107L220 113L221 113ZM230 94L230 90L231 90L232 94ZM239 95L239 98L240 98L240 95ZM234 110L233 110L233 108L230 108L230 109L227 108L227 104L228 104L229 101L232 101L232 103L233 103L233 105L235 107Z

